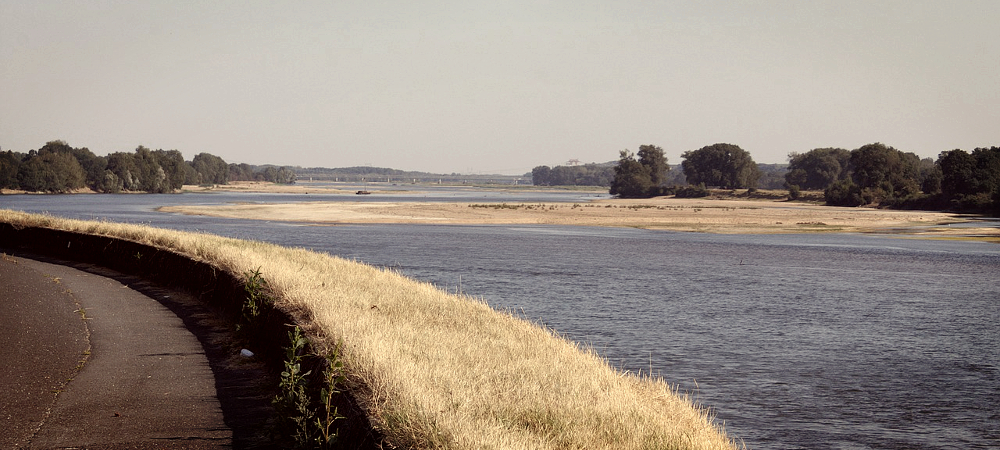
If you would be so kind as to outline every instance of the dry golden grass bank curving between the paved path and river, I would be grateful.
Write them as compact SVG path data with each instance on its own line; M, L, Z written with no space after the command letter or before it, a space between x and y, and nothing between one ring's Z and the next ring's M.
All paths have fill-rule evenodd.
M322 351L343 343L347 386L386 444L410 448L731 449L704 408L661 379L482 301L304 249L0 210L0 221L110 236L234 274L259 269L276 306Z

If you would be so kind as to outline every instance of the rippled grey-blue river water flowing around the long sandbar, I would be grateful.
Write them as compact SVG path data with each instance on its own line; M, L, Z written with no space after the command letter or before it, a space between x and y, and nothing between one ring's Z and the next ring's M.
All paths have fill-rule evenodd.
M857 234L567 226L307 226L154 212L393 196L0 196L0 208L276 242L398 269L594 346L710 406L759 449L1000 448L1000 246Z

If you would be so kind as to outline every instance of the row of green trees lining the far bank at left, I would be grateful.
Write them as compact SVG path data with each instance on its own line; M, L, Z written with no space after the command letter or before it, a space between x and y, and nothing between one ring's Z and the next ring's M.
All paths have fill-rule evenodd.
M227 184L230 181L270 181L291 184L287 167L229 164L199 153L185 161L177 150L150 150L97 156L86 147L51 141L28 153L0 151L0 188L29 192L71 192L84 187L95 192L174 192L185 184Z

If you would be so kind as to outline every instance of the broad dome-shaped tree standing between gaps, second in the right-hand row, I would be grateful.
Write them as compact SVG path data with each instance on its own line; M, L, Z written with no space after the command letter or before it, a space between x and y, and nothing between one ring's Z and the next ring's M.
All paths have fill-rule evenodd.
M757 187L760 170L750 153L733 144L714 144L684 152L681 167L689 184L725 189Z

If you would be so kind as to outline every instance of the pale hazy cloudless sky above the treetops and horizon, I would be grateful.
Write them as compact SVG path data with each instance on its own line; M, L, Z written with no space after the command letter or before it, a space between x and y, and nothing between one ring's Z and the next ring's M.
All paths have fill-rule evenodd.
M0 0L0 147L519 174L1000 145L1000 1Z

